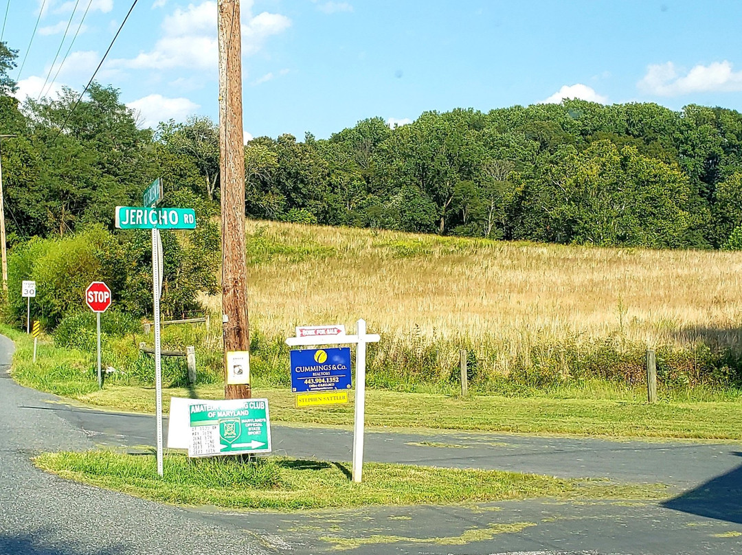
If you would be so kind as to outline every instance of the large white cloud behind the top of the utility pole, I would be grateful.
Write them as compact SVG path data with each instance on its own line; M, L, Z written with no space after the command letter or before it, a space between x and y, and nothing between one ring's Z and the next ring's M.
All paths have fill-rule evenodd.
M260 50L269 36L278 34L291 25L291 20L278 13L259 13L252 16L252 2L244 2L242 22L242 51L252 54ZM150 52L139 53L134 59L119 59L114 67L137 69L217 68L217 3L213 0L177 7L162 22L162 36Z

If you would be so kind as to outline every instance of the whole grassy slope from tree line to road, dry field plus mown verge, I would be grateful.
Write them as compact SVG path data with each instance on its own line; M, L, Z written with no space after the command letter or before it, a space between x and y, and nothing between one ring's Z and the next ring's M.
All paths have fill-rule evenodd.
M742 254L537 246L249 223L255 395L274 421L352 422L352 404L297 410L283 338L297 324L363 317L370 349L367 423L608 436L742 438L735 375ZM212 311L219 301L206 299ZM105 317L105 316L104 316ZM20 335L20 334L19 334ZM119 372L98 391L92 352L19 342L14 375L79 401L153 412L152 364L140 335L105 341ZM167 361L168 395L220 398L220 335L165 329L165 347L197 347L200 384ZM657 349L660 398L643 387L643 349ZM471 398L459 398L467 348ZM725 358L726 357L726 358ZM726 372L726 373L725 373ZM725 382L726 380L726 382ZM722 385L720 385L722 384ZM416 392L410 394L409 392Z

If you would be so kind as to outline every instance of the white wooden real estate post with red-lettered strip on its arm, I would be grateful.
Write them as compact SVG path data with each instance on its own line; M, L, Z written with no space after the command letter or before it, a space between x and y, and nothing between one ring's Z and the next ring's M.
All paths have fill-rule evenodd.
M309 332L302 334L301 330L330 330L330 333ZM335 333L341 329L342 333ZM381 336L376 333L366 333L366 321L361 318L356 323L357 335L345 335L344 326L306 326L296 329L295 338L286 339L289 347L308 347L310 345L346 345L355 344L355 410L353 415L353 468L352 479L358 484L363 479L364 472L364 419L366 415L366 344L378 343Z

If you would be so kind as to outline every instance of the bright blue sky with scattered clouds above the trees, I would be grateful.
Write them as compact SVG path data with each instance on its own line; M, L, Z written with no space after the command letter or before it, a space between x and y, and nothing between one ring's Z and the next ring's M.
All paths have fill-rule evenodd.
M82 91L131 2L0 0L2 40L19 50L19 97L52 82L88 9L45 94ZM564 96L742 110L739 1L242 0L241 9L253 137L325 138L372 116L404 124L427 110ZM216 0L139 0L97 79L120 89L143 126L216 120L216 22Z

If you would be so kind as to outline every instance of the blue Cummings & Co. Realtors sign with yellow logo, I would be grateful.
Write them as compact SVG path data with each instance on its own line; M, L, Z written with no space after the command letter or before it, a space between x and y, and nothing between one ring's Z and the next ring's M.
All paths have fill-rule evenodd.
M349 390L350 385L350 347L291 352L291 390L294 393Z

